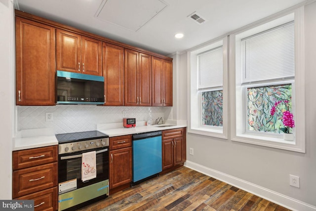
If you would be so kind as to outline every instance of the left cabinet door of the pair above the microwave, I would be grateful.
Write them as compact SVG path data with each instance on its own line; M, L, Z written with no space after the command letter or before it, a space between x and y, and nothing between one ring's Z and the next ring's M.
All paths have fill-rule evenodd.
M57 29L57 70L81 73L81 36Z

